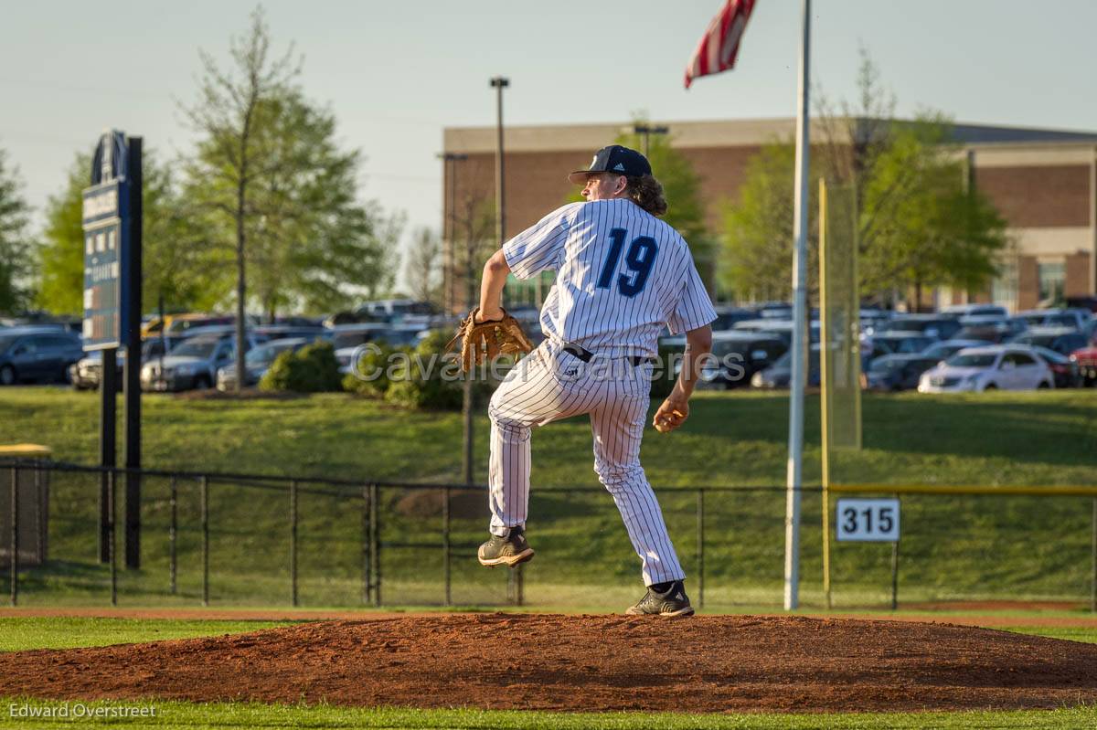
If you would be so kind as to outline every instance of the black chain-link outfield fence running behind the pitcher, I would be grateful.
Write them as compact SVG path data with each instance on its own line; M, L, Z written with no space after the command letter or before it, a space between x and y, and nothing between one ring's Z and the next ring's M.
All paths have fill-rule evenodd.
M600 487L535 487L530 536L544 557L490 571L483 486L308 476L0 464L10 602L134 605L476 605L592 608L633 601L638 561ZM32 474L33 479L26 475ZM44 484L49 554L27 555L25 490ZM126 486L140 482L140 567L123 568ZM694 605L776 605L784 555L783 486L658 490ZM903 499L902 560L883 545L832 543L823 590L822 490L801 492L805 605L951 600L1097 601L1097 502L1062 495ZM832 498L833 499L833 498ZM832 502L833 505L833 502ZM833 528L832 520L832 528ZM832 533L832 540L834 535Z

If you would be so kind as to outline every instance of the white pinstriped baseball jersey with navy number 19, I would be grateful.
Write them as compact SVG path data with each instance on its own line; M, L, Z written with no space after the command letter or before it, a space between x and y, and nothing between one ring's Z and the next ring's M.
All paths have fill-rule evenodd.
M655 356L664 324L678 334L716 318L686 241L630 199L559 207L502 252L519 278L556 271L542 331L591 352Z

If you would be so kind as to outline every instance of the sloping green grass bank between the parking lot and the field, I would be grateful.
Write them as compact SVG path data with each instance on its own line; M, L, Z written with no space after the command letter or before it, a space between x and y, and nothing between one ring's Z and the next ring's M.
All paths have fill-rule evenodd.
M98 456L98 397L55 388L8 389L0 443L50 446L61 460ZM121 401L120 401L121 403ZM121 409L120 409L121 410ZM456 481L461 423L453 413L416 413L346 396L289 400L195 401L148 397L144 463L185 470L316 475L353 480ZM818 408L806 414L805 479L818 481ZM476 423L477 479L486 480L487 421ZM649 430L643 463L659 490L691 590L697 591L698 486L779 487L784 480L784 393L699 393L685 429ZM120 441L121 444L121 441ZM636 559L612 500L591 470L586 419L552 424L533 437L529 532L539 551L527 570L527 598L542 607L613 609L637 594ZM121 455L120 455L121 463ZM864 449L835 460L836 481L943 484L1097 484L1097 390L926 397L873 397L864 403ZM546 486L581 491L554 493ZM121 577L123 602L189 603L200 595L196 484L180 482L179 595L166 597L168 482L144 487L144 563ZM50 557L26 573L25 603L102 602L106 573L94 563L97 482L55 475ZM442 598L440 502L402 490L383 493L386 603ZM505 571L475 564L486 506L455 500L453 600L498 604ZM362 501L302 493L298 567L306 605L361 601ZM783 558L780 490L705 497L705 601L710 607L777 603ZM218 603L289 600L289 499L283 491L211 488L212 595ZM120 507L120 514L122 510ZM803 499L802 595L818 605L821 501ZM907 497L903 501L901 600L957 596L1065 597L1089 592L1092 501L1078 498ZM882 601L890 547L837 545L832 555L838 605ZM694 596L695 597L695 596Z

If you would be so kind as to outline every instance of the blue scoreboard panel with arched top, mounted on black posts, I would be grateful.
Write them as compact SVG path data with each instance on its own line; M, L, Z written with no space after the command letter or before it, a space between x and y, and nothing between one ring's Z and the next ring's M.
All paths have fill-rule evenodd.
M95 148L91 187L83 191L83 346L126 344L129 290L129 184L126 138L105 133Z

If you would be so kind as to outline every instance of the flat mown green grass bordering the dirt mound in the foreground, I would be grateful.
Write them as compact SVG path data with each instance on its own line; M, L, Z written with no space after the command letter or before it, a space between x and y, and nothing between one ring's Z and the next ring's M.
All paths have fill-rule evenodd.
M216 636L273 626L260 621L165 621L132 619L23 618L0 616L0 650L106 646L151 638ZM1020 629L1018 629L1020 630ZM79 631L79 637L73 638ZM1026 632L1050 635L1047 629ZM1072 630L1075 640L1097 641L1097 628ZM1097 723L1097 708L1064 707L1042 711L897 712L845 715L688 715L688 714L565 714L487 711L478 709L418 710L406 708L351 708L330 705L264 705L259 703L183 703L149 700L87 703L90 707L155 707L156 718L80 720L81 727L157 728L513 728L572 730L634 728L731 730L759 728L1082 728ZM58 711L65 703L25 697L0 698L0 726L61 728L77 720L12 716L12 712ZM75 710L69 704L69 712ZM5 723L7 720L7 723Z

